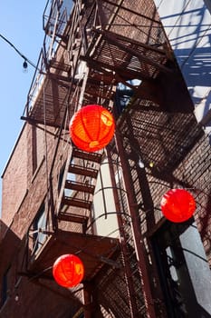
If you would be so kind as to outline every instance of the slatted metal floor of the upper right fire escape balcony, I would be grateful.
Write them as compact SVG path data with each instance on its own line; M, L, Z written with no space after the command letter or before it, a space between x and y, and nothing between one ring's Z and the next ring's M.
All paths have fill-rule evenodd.
M98 31L98 45L85 55L91 65L110 69L123 78L154 78L159 71L168 72L168 58L161 49L144 45L122 35L108 31Z

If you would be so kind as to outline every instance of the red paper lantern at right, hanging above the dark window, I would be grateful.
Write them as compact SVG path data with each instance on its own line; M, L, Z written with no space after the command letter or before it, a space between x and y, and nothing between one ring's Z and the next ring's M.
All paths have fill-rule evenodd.
M171 189L161 199L161 211L171 222L185 222L195 210L196 202L185 189Z

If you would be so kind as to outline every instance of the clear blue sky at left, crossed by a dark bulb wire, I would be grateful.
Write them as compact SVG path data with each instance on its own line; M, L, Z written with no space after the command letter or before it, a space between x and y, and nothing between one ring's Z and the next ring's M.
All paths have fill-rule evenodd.
M43 11L47 1L6 0L0 2L0 34L36 65L43 45ZM23 72L23 58L0 37L0 174L14 148L24 122L26 97L34 67ZM1 186L0 186L1 192Z

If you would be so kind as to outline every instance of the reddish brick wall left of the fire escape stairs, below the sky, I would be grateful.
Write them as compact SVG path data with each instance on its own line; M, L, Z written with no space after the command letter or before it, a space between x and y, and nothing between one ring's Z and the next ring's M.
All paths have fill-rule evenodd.
M48 127L48 133L37 132L37 168L33 172L32 126L25 124L24 131L15 145L14 153L6 166L3 178L3 220L1 224L0 253L4 255L0 264L0 282L7 274L7 299L0 308L0 317L37 317L37 314L53 317L73 316L81 303L72 294L56 283L39 279L34 283L27 277L25 261L29 225L33 222L49 186L49 174L57 142L56 130ZM46 142L46 144L45 144ZM60 143L53 169L53 194L58 195L58 181L62 165L66 160L68 143ZM17 164L18 163L18 164ZM14 195L9 195L13 192ZM11 214L9 213L11 211ZM6 226L8 225L8 226ZM26 275L20 275L24 273ZM38 284L37 284L38 283ZM45 287L43 287L43 285ZM15 298L18 296L18 298ZM2 293L0 293L1 302ZM44 305L43 305L44 303Z

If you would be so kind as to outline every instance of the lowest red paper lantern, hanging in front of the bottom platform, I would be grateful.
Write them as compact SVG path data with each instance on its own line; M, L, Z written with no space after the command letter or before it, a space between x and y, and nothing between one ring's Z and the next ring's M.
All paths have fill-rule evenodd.
M53 263L53 277L62 287L74 287L82 282L84 267L81 259L72 254L64 254Z

